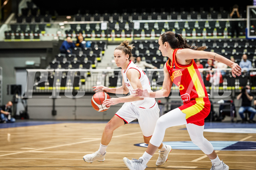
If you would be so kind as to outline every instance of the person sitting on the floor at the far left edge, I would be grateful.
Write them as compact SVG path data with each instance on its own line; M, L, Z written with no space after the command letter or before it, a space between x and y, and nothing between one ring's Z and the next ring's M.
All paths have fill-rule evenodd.
M15 122L15 118L11 117L11 106L12 102L9 101L6 105L0 107L0 122L8 123Z

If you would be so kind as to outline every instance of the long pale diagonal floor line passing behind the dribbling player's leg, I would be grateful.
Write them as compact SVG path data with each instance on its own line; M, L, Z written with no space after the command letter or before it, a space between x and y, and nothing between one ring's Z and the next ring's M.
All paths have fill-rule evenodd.
M124 134L124 135L113 136L112 138L121 137L121 136L128 136L128 135L136 135L136 134L139 134L139 133L142 133L142 132L127 133L127 134ZM34 150L29 150L29 151L15 152L15 153L11 153L11 154L0 155L0 156L21 154L21 153L25 153L25 152L39 151L39 150L50 149L50 148L57 148L57 147L62 147L62 146L70 146L70 145L74 145L74 144L87 143L87 142L97 141L97 140L101 140L101 138L87 140L87 141L80 141L80 142L75 142L75 143L69 143L69 144L63 144L63 145L57 145L57 146L51 146L51 147L45 147L45 148L39 148L39 149L34 149Z

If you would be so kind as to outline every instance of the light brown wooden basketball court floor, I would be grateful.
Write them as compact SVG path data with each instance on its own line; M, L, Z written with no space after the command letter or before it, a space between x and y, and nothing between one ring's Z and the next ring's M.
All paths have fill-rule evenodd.
M142 132L136 122L114 131L105 162L84 162L85 154L98 150L105 125L106 122L67 121L0 128L0 169L128 170L122 158L138 159L146 150L145 147L134 146L143 143ZM251 125L255 128L255 124ZM168 128L164 141L190 141L184 128L185 125ZM256 141L256 133L204 132L204 136L209 141ZM216 152L231 170L256 170L256 150ZM161 167L156 166L157 157L158 152L147 164L147 169L211 169L210 160L200 150L173 149Z

